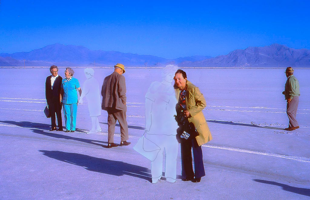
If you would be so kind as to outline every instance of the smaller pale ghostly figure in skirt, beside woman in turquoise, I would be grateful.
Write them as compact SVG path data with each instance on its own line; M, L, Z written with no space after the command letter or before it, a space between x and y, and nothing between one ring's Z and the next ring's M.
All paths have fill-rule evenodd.
M98 116L101 115L101 99L99 83L94 77L94 70L86 68L84 70L86 79L83 84L82 95L80 103L83 103L83 98L86 97L88 102L89 114L91 117L92 128L87 133L101 132L102 129L99 124Z

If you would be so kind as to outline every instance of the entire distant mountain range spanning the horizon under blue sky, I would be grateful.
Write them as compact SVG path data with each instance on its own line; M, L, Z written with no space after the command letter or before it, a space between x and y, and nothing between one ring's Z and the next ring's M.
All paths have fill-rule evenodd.
M118 51L89 50L83 46L53 44L30 52L0 54L0 66L164 66L179 67L310 67L310 50L292 49L280 44L248 47L227 55L189 56L165 59L153 55L139 55Z

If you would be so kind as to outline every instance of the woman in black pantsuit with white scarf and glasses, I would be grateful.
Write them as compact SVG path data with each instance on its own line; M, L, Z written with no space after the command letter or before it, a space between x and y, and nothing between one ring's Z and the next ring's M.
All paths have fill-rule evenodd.
M62 128L62 118L61 118L61 108L62 105L60 103L60 89L61 89L61 81L62 77L58 75L58 67L53 65L50 67L51 75L46 77L45 81L45 98L48 105L48 110L51 115L51 130L56 130L56 118L57 116L58 122L58 130L63 131Z

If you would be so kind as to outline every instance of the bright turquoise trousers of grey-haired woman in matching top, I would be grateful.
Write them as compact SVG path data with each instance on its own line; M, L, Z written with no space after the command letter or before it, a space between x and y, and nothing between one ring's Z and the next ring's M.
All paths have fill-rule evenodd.
M77 121L78 104L64 104L64 124L67 130L75 131L75 125Z

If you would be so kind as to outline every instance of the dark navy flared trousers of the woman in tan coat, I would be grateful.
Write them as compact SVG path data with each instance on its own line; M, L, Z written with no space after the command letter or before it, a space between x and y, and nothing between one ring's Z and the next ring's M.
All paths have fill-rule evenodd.
M194 170L192 161L192 149L194 157ZM182 176L187 179L201 178L206 176L202 160L202 149L198 146L196 138L181 142Z

